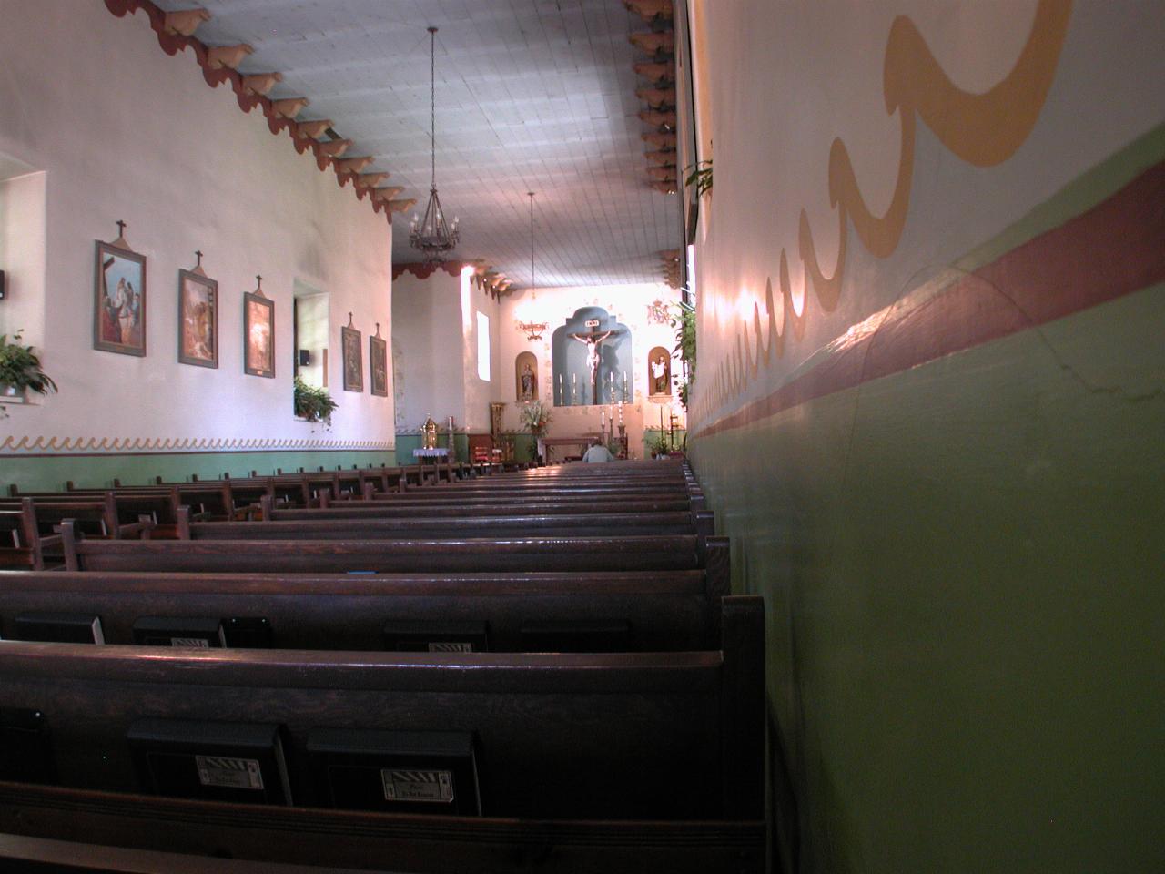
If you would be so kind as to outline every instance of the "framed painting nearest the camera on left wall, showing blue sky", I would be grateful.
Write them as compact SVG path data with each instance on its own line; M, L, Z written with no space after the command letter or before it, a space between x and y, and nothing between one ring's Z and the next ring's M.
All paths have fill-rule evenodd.
M97 240L93 348L146 354L146 256Z

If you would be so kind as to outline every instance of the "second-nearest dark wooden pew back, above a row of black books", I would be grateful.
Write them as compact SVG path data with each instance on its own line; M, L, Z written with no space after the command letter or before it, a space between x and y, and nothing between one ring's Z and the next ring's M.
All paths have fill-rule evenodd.
M570 640L622 622L631 650L709 649L719 646L726 583L704 570L10 573L0 587L0 635L19 637L14 619L21 614L71 613L99 616L106 643L129 644L140 618L210 618L224 625L227 646L235 646L232 620L262 619L276 648L374 650L387 647L386 621L428 629L436 639L451 623L483 622L490 651L527 651L546 629Z

